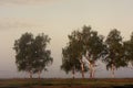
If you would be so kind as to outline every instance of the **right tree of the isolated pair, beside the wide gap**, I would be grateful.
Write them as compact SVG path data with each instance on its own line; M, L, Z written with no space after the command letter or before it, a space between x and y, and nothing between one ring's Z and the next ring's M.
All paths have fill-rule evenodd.
M43 69L48 70L47 66L51 65L53 62L53 58L50 56L51 51L47 50L48 43L50 43L50 37L48 35L44 35L43 33L35 36L33 42L33 48L34 48L33 50L34 51L33 73L38 73L39 78L40 78L41 72Z

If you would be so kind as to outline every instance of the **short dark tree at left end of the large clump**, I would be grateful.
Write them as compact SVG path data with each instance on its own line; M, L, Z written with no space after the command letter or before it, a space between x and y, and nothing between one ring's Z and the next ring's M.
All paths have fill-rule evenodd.
M66 74L72 72L74 78L75 72L80 70L80 62L76 59L73 50L69 46L62 50L62 54L63 58L61 69L63 69Z

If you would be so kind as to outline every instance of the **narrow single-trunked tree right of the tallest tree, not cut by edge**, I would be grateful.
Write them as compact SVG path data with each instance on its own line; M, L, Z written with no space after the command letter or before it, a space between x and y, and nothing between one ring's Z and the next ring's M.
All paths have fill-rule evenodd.
M116 68L126 66L121 32L116 29L112 30L105 40L105 44L108 52L104 62L106 63L106 69L111 69L112 77L114 77Z

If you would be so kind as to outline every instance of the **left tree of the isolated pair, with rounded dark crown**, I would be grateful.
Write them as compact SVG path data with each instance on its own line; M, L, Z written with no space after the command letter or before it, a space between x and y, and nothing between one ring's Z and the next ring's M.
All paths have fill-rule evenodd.
M19 72L28 72L32 78L33 70L33 35L31 33L22 34L19 40L14 42L16 64Z

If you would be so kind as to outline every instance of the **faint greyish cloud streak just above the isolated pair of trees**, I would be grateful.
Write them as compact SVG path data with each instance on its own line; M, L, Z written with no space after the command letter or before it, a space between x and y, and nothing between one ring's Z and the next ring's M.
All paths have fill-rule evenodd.
M0 30L42 28L42 24L28 19L0 19Z

